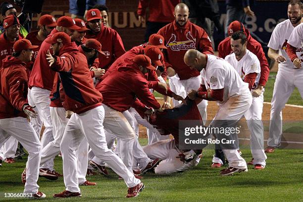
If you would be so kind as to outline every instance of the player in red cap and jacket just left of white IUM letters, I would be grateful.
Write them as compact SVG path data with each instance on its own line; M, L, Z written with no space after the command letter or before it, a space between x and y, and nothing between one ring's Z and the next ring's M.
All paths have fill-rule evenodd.
M105 55L99 55L99 68L107 69L118 57L125 53L120 35L113 29L105 27L101 22L99 9L91 9L86 13L87 39L96 39L102 44Z

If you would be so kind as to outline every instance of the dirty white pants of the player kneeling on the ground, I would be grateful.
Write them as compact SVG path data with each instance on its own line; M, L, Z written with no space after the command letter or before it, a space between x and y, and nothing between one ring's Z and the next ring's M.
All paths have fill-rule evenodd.
M170 174L185 171L198 165L200 162L199 155L190 162L182 162L179 156L182 152L176 148L174 139L161 140L143 147L143 150L150 158L159 158L162 160L154 169L156 174Z

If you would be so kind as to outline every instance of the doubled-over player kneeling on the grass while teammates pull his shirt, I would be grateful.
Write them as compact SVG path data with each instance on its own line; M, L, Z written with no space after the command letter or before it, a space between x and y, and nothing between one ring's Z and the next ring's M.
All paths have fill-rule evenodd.
M162 160L154 169L156 174L185 171L198 165L202 150L182 151L179 149L179 132L184 130L179 127L179 121L199 120L200 125L203 125L196 101L186 99L186 104L180 104L163 112L156 112L148 119L157 130L161 131L161 135L171 134L174 137L174 139L161 140L143 147L144 152L150 158Z

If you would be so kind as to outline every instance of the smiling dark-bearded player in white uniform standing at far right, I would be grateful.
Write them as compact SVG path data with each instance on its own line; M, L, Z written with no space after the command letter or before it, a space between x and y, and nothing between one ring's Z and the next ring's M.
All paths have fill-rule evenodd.
M290 37L292 32L296 33L294 32L295 28L298 27L297 29L299 30L299 27L302 27L302 6L303 4L300 0L291 0L289 2L287 8L289 19L279 23L275 27L268 43L268 57L279 63L271 100L268 147L265 149L265 152L268 153L274 152L275 148L280 146L282 109L294 91L294 88L297 87L301 96L303 96L303 71L300 68L301 66L298 63L295 64L294 61L295 58L299 58L296 59L296 62L302 59L303 46L300 41L302 38L300 39L300 35ZM299 43L293 43L292 41L299 41ZM286 53L288 43L296 47L295 54L292 57Z

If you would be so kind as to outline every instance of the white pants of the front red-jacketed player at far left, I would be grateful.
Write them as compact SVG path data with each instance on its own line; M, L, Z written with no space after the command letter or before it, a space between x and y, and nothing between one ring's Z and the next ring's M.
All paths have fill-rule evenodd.
M29 153L24 193L36 194L41 158L41 143L33 126L24 117L0 119L0 147L9 137L16 138Z

